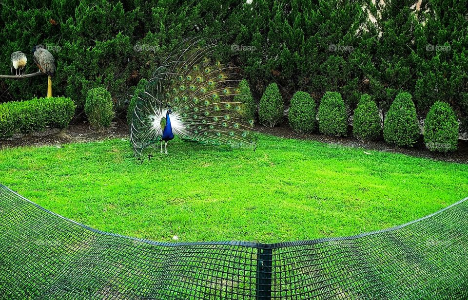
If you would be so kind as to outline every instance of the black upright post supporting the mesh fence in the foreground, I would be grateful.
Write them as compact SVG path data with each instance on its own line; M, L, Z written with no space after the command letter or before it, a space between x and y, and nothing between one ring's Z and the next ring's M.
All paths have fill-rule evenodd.
M268 246L258 245L257 248L256 300L270 300L272 298L273 251Z

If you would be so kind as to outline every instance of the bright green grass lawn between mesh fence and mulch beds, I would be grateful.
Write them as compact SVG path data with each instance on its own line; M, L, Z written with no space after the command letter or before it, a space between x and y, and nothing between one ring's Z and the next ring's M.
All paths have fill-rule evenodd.
M260 135L257 150L176 140L0 150L0 183L80 223L156 241L264 243L399 225L468 196L468 165Z

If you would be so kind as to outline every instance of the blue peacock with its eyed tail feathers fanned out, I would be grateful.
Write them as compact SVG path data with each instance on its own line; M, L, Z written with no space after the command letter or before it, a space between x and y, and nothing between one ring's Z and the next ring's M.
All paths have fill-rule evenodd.
M246 103L233 68L209 56L215 45L188 38L156 69L138 95L130 124L130 142L143 161L143 150L174 136L204 145L255 150L254 120L244 116ZM148 156L148 159L151 155Z

